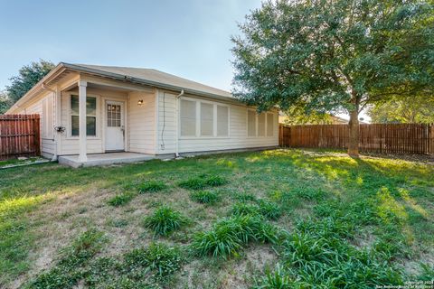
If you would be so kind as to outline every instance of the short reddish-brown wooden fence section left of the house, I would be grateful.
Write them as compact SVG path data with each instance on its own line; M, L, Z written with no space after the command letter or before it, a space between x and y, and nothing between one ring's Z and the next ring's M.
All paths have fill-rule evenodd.
M40 155L39 115L0 115L0 160Z

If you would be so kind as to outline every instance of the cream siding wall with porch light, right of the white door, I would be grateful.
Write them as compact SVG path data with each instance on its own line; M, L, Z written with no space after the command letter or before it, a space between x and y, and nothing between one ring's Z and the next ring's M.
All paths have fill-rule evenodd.
M137 105L143 100L142 105ZM148 92L129 94L129 151L156 154L156 95Z

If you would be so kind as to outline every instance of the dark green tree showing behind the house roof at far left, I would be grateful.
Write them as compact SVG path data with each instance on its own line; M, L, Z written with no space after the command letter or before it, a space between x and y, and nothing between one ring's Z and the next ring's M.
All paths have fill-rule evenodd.
M23 98L24 94L33 88L45 75L54 68L52 61L33 61L29 65L24 65L18 75L12 77L11 85L6 86L5 92L8 98L14 103Z

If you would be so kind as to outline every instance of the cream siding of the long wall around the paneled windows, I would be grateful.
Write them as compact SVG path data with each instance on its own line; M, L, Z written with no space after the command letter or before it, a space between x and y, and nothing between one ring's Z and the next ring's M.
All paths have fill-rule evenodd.
M189 96L189 98L194 98ZM210 100L210 99L209 99ZM212 100L219 104L219 101ZM179 139L179 153L219 151L243 148L256 148L278 145L278 113L273 112L273 135L247 136L248 107L229 105L229 137L181 137ZM160 91L158 94L158 137L157 154L175 153L175 94ZM165 130L162 138L163 125ZM163 147L162 144L165 144Z

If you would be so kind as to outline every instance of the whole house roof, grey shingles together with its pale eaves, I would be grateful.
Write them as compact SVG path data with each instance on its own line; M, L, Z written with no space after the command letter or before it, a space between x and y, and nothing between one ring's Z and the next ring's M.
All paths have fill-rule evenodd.
M12 113L17 107L20 107L26 101L32 99L37 95L38 92L42 91L42 86L44 84L48 85L52 79L55 79L61 75L61 73L65 70L89 73L92 75L129 81L132 83L143 84L161 89L175 91L184 90L184 92L187 94L238 102L238 99L233 98L231 93L228 91L215 89L210 86L189 79L183 79L173 74L165 73L159 70L60 62L43 79L33 86L33 88L30 89L23 98L20 98L14 104L14 106L9 108L6 114Z

